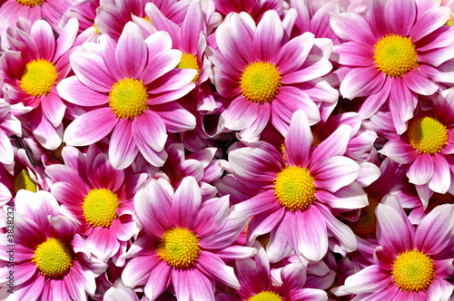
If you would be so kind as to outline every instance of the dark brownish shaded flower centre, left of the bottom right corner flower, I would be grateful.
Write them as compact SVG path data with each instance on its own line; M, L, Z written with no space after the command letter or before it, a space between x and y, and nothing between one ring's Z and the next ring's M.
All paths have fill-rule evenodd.
M379 206L379 204L380 199L369 197L369 205L361 208L360 218L355 222L349 223L350 228L360 238L375 238L377 229L375 209Z

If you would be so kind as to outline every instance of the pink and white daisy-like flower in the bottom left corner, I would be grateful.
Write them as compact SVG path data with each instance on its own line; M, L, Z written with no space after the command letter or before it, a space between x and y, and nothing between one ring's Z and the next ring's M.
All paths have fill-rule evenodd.
M21 190L15 198L14 294L6 300L85 300L94 295L94 278L105 271L93 257L75 225L62 216L54 197L45 191ZM6 215L5 215L6 219ZM6 234L1 234L0 286L10 268ZM9 237L9 239L13 239ZM9 247L11 248L11 247Z

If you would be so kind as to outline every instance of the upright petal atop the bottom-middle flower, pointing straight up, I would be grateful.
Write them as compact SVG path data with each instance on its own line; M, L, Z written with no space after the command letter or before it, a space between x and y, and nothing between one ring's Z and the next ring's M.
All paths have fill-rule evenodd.
M172 202L172 220L182 228L193 228L202 204L199 184L193 177L186 177L175 191Z

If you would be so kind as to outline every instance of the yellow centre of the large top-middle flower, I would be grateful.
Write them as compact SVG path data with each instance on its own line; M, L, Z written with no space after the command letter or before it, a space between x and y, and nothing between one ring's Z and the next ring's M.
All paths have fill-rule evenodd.
M272 63L250 63L242 72L240 87L250 102L271 102L281 87L281 73Z

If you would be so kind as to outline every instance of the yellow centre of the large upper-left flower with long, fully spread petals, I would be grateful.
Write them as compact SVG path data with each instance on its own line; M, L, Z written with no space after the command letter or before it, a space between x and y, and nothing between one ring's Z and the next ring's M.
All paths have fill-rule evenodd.
M120 119L128 118L132 121L135 117L142 115L148 108L147 100L148 94L142 81L132 78L123 78L114 83L109 92L109 106Z

